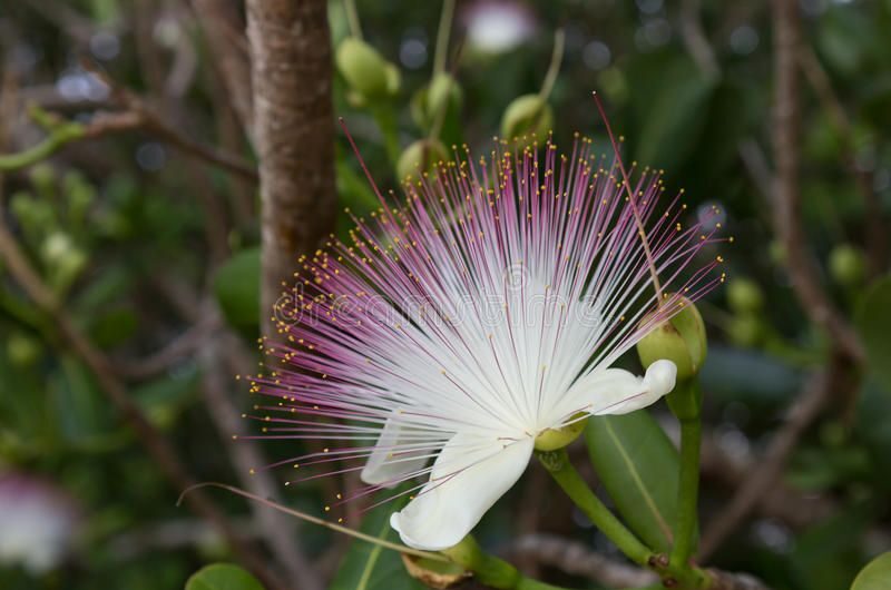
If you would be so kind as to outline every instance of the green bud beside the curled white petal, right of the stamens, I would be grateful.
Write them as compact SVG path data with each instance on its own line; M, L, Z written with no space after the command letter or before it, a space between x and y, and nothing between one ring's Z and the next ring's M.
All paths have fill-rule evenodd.
M644 368L662 358L677 366L677 381L684 382L699 372L708 344L705 323L696 306L686 297L674 305L683 306L674 317L656 326L637 343L637 354ZM642 321L646 322L647 318Z

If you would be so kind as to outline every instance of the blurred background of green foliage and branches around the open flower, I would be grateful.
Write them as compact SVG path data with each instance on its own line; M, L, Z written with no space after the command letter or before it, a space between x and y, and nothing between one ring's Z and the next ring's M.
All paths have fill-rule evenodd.
M398 188L418 140L415 161L437 140L484 154L495 135L542 124L558 145L579 131L607 151L597 90L627 161L664 168L694 213L721 209L734 242L728 283L701 304L702 551L771 588L848 588L891 548L891 2L795 4L800 132L780 151L770 2L461 0L448 36L440 2L356 4L373 59L337 51L359 23L340 1L323 7L330 41L301 35L331 43L333 114L381 187ZM178 589L214 561L270 570L270 588L418 587L393 553L368 570L369 545L224 492L176 505L189 483L221 481L321 514L341 485L252 478L300 443L232 440L252 431L235 375L256 370L267 315L257 163L275 154L251 127L245 21L238 0L0 8L3 589ZM378 67L383 89L369 80ZM776 181L783 155L797 157L799 186ZM336 210L375 208L340 128L332 156ZM667 412L654 415L673 437ZM480 539L545 579L619 586L604 573L624 571L615 549L540 471ZM379 534L384 518L363 527ZM578 543L587 557L567 559Z

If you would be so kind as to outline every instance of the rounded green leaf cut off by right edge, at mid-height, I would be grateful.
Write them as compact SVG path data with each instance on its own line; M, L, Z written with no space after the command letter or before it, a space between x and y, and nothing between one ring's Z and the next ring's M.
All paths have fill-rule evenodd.
M866 292L856 314L856 327L866 348L870 370L891 391L891 276L880 278Z

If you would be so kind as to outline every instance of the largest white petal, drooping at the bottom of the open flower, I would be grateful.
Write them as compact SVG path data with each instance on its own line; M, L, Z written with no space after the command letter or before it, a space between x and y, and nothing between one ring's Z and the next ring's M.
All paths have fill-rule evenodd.
M430 481L390 524L415 549L439 551L457 544L520 479L532 444L531 437L456 434L433 463Z

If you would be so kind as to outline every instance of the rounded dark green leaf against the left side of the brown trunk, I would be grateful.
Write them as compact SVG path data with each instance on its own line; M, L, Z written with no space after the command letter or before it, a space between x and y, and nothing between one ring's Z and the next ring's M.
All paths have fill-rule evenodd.
M214 294L232 326L255 331L260 325L260 248L226 260L214 277Z

